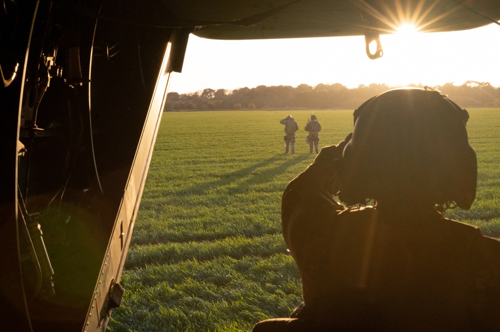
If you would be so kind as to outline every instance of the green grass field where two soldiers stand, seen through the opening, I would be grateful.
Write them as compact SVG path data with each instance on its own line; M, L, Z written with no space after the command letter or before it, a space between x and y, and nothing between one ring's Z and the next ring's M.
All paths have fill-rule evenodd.
M295 155L283 125L297 121ZM500 109L470 109L477 198L446 216L500 236ZM281 236L287 183L313 161L302 131L310 111L163 114L108 331L250 331L287 317L301 283ZM320 146L352 130L352 110L316 111Z

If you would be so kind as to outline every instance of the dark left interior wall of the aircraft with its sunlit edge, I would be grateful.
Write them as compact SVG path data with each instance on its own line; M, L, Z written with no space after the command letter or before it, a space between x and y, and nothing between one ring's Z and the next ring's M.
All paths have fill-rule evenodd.
M70 2L10 1L1 16L2 331L105 330L191 31Z

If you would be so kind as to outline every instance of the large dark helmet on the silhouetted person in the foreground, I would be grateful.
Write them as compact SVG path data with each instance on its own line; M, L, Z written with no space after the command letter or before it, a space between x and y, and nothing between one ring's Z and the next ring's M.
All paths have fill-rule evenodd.
M339 198L470 208L477 162L468 144L468 113L438 91L400 88L354 111L342 156Z

